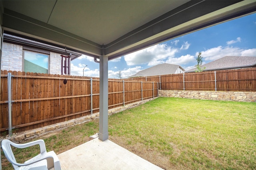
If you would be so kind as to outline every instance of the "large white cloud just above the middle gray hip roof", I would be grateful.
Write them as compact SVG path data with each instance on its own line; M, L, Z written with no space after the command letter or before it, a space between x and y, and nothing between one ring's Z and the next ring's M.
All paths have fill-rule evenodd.
M178 49L169 47L166 44L158 44L124 56L128 66L136 64L148 64L153 66L163 63L164 59L174 57Z

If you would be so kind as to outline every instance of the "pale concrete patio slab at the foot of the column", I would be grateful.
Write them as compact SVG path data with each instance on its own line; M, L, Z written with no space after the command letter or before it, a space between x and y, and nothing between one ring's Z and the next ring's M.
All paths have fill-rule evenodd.
M110 140L92 139L58 154L62 170L162 170Z

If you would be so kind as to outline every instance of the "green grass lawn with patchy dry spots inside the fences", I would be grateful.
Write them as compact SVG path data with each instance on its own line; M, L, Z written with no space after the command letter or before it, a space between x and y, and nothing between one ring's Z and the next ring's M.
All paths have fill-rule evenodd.
M47 150L59 154L97 132L95 120L41 139ZM111 115L109 135L111 141L168 170L256 169L252 102L157 98Z

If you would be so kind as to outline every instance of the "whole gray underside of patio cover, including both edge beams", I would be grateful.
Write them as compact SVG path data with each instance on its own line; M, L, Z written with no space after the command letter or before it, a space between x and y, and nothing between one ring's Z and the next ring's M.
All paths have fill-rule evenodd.
M4 31L108 60L256 11L255 0L2 0Z

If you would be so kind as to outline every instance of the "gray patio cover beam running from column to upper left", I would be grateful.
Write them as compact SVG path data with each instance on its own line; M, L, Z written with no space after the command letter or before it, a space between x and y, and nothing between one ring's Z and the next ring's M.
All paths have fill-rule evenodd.
M101 45L97 43L6 8L4 8L2 21L2 27L7 31L67 46L92 57L99 57L102 54Z

